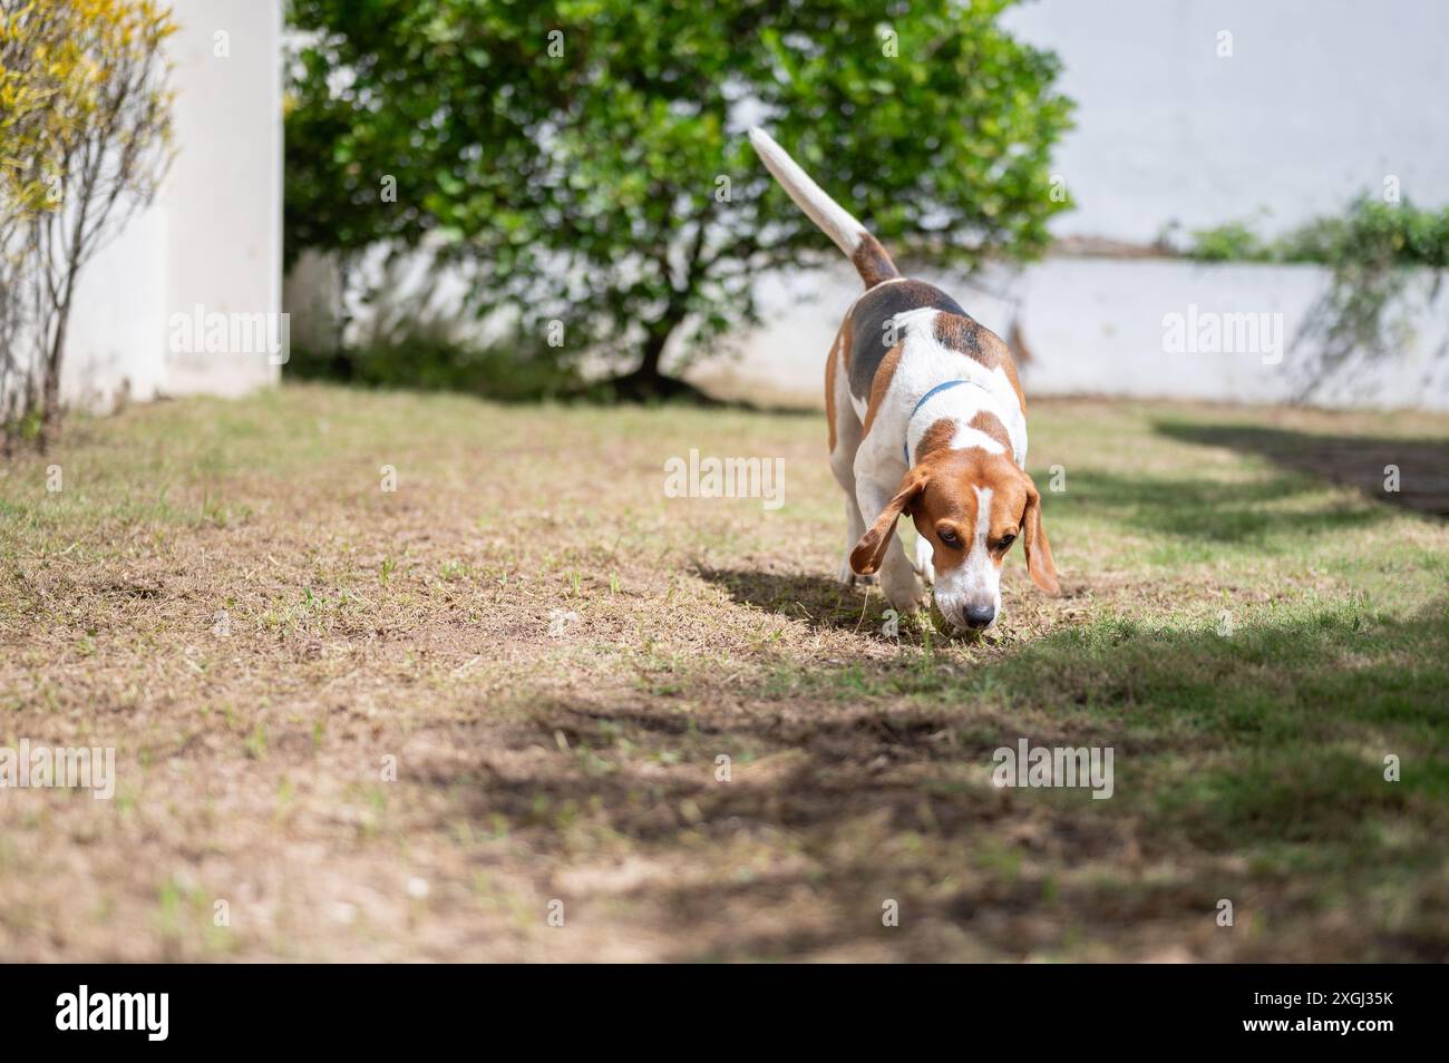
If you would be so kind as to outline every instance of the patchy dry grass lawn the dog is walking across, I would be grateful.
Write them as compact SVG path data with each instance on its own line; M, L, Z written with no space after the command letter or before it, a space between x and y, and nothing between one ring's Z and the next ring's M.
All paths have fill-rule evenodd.
M785 504L667 498L691 449ZM1443 508L1446 455L1036 403L1062 597L1013 550L991 637L897 642L833 582L819 414L74 420L0 465L0 746L117 783L0 789L0 957L1449 959L1449 526L1382 494ZM995 788L1023 737L1110 746L1111 799Z

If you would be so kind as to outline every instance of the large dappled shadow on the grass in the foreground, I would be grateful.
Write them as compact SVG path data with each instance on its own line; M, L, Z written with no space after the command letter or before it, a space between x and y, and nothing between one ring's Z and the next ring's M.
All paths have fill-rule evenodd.
M1279 607L1230 637L1103 620L969 668L780 652L743 684L701 665L675 697L530 704L517 746L567 750L468 814L546 860L582 825L667 869L614 901L675 959L1443 960L1446 660L1449 601ZM993 786L1023 737L1111 746L1113 799ZM909 920L882 927L885 901Z

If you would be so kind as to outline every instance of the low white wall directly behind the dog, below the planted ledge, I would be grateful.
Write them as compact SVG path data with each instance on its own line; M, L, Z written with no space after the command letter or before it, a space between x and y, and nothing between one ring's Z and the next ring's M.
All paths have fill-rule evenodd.
M1175 259L1049 258L1019 277L988 278L990 290L962 277L923 275L949 291L1001 336L1013 324L1030 359L1022 366L1027 395L1101 394L1285 403L1295 398L1306 346L1294 337L1329 285L1319 266L1203 265ZM1311 401L1329 407L1449 410L1449 285L1430 303L1430 278L1414 277L1403 303L1410 339L1384 362L1364 359L1330 379ZM809 269L759 287L767 324L745 337L740 355L709 362L696 377L739 390L823 404L823 366L840 316L861 294L842 264ZM1175 352L1169 314L1266 314L1281 346L1239 353ZM1275 317L1277 316L1277 317ZM1264 320L1264 319L1259 319ZM1264 333L1266 340L1268 333Z

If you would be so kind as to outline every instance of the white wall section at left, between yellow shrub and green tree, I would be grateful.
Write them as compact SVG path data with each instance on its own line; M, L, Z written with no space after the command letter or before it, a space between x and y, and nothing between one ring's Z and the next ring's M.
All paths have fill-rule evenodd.
M171 353L170 319L281 310L281 0L172 0L177 158L156 203L81 275L64 397L241 394L265 355ZM214 54L229 35L229 58Z

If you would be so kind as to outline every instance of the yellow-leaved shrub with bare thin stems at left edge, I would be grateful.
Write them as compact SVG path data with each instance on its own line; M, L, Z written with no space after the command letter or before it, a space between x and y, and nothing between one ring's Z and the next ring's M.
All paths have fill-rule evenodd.
M174 32L156 0L0 0L0 421L38 414L42 440L75 278L170 162Z

